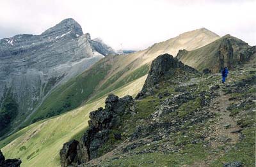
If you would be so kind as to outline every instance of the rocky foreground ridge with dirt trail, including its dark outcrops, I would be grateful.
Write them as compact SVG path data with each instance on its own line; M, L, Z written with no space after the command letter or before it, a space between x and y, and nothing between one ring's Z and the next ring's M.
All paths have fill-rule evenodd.
M82 142L72 140L63 145L61 166L254 164L253 68L248 64L230 71L227 85L220 85L220 76L200 75L170 55L160 55L152 62L143 87L152 88L150 94L132 100L127 105L132 106L131 112L120 114L119 119L111 110L124 105L109 95L106 109L90 113ZM84 150L79 143L86 146ZM239 152L243 154L237 156Z

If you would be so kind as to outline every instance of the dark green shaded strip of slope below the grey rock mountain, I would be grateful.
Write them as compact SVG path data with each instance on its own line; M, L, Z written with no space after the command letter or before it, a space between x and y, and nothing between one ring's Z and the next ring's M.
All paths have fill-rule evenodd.
M38 110L24 124L72 110L83 103L92 94L95 87L106 77L111 69L113 57L102 59L76 78L57 87L42 103Z

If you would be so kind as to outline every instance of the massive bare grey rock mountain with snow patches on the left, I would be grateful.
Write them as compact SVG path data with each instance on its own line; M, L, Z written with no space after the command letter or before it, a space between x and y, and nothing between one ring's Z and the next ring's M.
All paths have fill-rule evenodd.
M11 129L36 112L36 106L56 85L108 54L100 52L104 48L95 48L92 43L97 41L83 34L81 26L72 18L40 35L20 34L0 40L0 99L3 101L4 94L11 92L19 105Z

